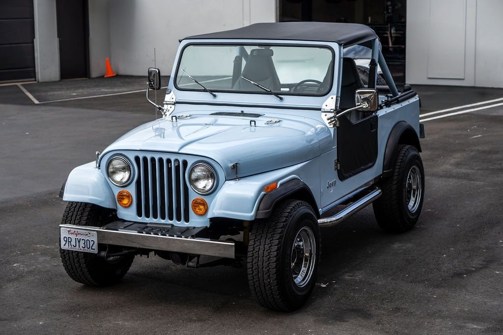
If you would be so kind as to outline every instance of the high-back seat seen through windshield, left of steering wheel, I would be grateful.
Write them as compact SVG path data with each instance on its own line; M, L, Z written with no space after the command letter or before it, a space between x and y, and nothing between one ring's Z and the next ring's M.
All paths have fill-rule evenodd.
M273 63L271 49L252 49L241 75L269 88L273 92L281 90L281 83ZM232 89L242 91L263 91L261 88L239 77Z

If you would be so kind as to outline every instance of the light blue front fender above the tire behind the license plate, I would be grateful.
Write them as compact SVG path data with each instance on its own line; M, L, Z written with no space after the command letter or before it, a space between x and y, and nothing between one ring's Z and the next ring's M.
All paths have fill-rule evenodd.
M63 200L117 209L115 196L95 162L74 168L64 184Z

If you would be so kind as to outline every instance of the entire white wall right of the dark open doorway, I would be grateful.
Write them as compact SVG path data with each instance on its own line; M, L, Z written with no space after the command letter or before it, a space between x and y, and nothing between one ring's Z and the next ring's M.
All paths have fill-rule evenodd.
M405 80L503 87L501 0L407 0Z

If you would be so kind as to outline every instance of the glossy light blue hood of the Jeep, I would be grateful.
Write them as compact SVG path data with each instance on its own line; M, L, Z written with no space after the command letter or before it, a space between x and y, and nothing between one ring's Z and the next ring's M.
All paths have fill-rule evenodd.
M332 147L328 128L318 120L284 114L259 118L212 116L214 111L187 111L189 118L170 117L144 124L105 149L172 152L218 162L226 179L245 177L313 159ZM309 112L308 112L309 113ZM312 113L312 112L311 112ZM281 122L267 124L271 119ZM250 126L251 120L251 126Z

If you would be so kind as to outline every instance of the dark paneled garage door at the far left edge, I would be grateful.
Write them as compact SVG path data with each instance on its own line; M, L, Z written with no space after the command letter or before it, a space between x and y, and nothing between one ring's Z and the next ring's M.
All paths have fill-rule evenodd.
M0 1L0 81L35 79L33 0Z

